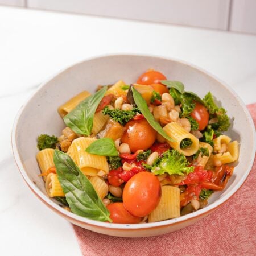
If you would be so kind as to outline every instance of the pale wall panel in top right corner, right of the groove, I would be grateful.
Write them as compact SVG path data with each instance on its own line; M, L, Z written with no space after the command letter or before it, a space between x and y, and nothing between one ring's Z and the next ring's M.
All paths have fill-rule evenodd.
M233 0L230 30L256 34L255 0Z

